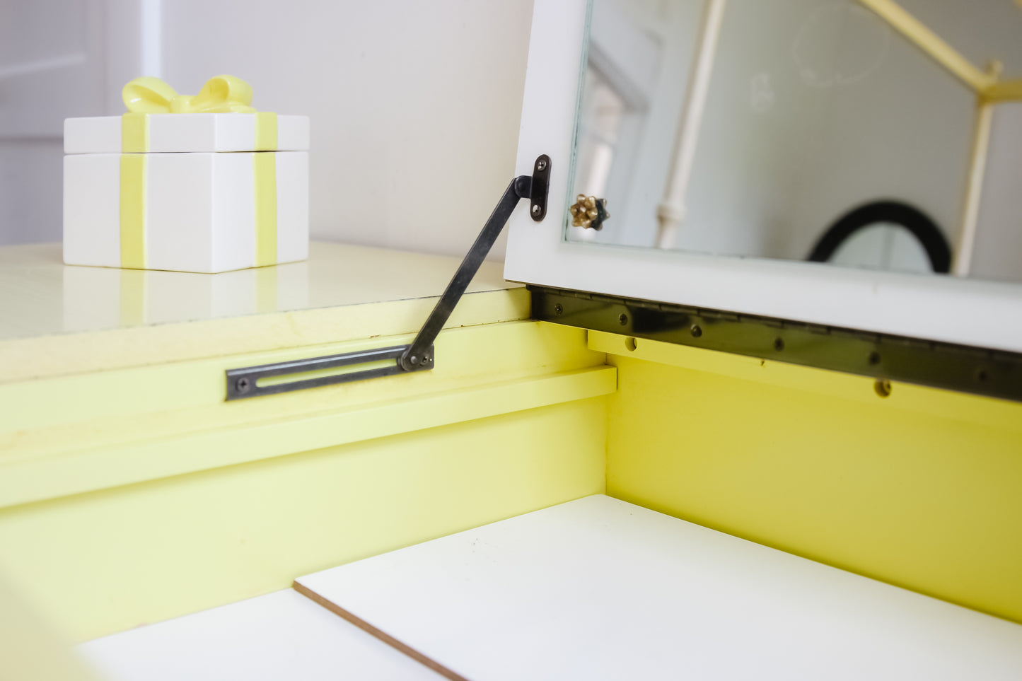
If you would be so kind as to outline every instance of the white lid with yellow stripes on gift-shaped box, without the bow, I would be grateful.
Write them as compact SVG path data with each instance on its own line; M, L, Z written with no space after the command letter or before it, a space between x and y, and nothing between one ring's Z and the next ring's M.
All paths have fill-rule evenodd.
M145 148L131 148L125 139L126 125L132 126L136 134L143 135L142 139L147 142ZM138 133L139 128L141 133ZM308 116L271 112L129 114L64 121L64 153L308 149Z

